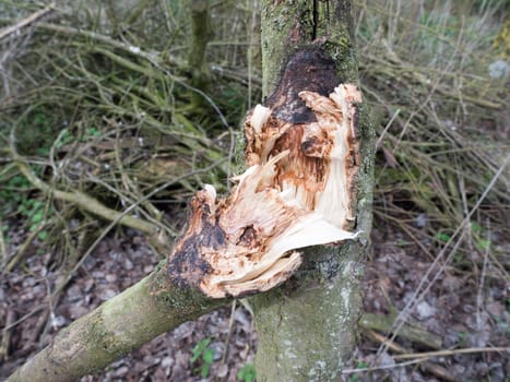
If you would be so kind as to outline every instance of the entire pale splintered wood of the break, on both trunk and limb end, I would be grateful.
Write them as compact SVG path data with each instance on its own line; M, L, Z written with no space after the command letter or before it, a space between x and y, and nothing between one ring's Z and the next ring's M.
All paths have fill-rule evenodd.
M258 105L247 117L246 160L227 199L212 186L191 203L186 235L168 261L179 286L223 298L264 291L286 280L304 247L353 239L354 189L359 166L356 86L328 96L296 91L315 118L292 122L276 106ZM280 105L281 106L281 105Z

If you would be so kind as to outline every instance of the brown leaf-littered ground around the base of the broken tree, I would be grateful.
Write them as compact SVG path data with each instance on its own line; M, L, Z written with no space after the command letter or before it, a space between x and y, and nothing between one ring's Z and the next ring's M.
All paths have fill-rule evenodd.
M23 242L24 235L11 231L10 246ZM404 309L432 260L390 227L376 224L372 242L364 282L365 308L367 312L388 315ZM506 248L500 250L510 253L510 243L502 246ZM33 251L36 253L38 248ZM9 326L10 336L9 347L2 344L9 353L0 365L0 380L47 345L60 329L137 283L161 260L135 231L111 235L84 260L63 293L54 294L60 298L52 301L50 310L41 301L47 300L48 291L61 276L51 271L52 255L33 255L26 265L2 276L0 326ZM402 353L437 349L398 336L390 343L390 350L382 351L377 333L364 330L346 372L367 367L380 369L345 373L342 381L509 381L508 351L476 350L510 345L510 286L490 274L490 270L485 270L484 288L479 289L479 279L473 278L472 273L463 275L447 268L411 311L416 325L440 338L442 354L410 362L402 359ZM211 363L201 358L191 363L193 350L200 353L198 344L213 350ZM158 336L103 373L81 381L238 381L239 370L252 362L256 348L249 306L237 302ZM459 348L474 353L455 353ZM202 370L207 378L200 377ZM245 381L249 379L246 377Z

